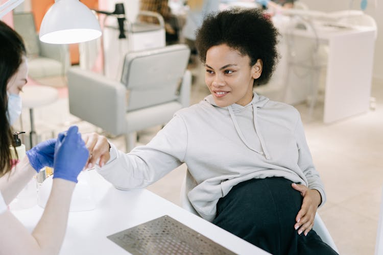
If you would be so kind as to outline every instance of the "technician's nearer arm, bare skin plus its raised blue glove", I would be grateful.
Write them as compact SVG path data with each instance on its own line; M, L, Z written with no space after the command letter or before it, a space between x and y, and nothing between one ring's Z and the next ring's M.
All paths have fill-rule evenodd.
M52 190L41 219L30 234L9 211L0 214L0 254L54 255L60 251L71 196L88 156L77 126L59 134Z

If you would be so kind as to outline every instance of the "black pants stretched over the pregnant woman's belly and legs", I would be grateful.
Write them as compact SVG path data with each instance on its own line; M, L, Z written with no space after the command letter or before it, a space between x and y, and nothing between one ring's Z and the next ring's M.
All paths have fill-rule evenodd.
M303 198L291 184L283 177L237 184L218 201L213 223L272 254L338 254L313 230L298 235Z

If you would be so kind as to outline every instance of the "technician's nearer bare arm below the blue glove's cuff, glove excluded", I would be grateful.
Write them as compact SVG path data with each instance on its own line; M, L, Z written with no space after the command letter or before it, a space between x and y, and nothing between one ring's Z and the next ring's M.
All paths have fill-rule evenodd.
M10 211L0 214L0 254L57 254L65 235L75 185L63 179L53 180L51 195L32 234Z

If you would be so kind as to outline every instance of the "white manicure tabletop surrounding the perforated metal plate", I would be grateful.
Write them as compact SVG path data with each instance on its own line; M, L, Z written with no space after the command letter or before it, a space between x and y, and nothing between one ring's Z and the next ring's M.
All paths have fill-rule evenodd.
M269 254L146 189L117 190L94 170L90 171L90 180L96 209L69 213L62 255L129 254L107 236L163 215L169 215L237 254ZM32 231L42 209L35 206L13 213Z

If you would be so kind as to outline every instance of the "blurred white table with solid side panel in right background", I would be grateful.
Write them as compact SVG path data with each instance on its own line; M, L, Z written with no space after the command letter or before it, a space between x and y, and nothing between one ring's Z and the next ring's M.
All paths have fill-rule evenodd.
M315 36L302 29L286 31L283 22L274 23L282 35L290 33L297 40ZM372 27L337 28L326 23L313 22L316 38L328 44L323 122L330 123L368 111L376 31Z

